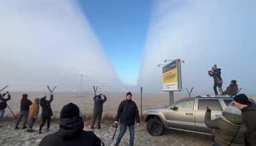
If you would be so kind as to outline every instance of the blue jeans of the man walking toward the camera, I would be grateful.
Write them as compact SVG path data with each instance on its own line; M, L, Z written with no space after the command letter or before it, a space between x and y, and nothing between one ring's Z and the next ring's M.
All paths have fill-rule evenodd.
M119 134L118 134L118 136L116 138L115 146L119 145L119 143L121 142L121 139L123 138L127 127L129 128L129 132L130 132L129 145L130 146L134 145L134 124L131 125L131 126L127 126L127 125L121 124L120 125L120 132L119 132Z

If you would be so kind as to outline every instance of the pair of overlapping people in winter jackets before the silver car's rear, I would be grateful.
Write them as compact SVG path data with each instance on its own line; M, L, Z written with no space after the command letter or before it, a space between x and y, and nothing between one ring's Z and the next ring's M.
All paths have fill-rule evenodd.
M256 145L256 104L245 94L235 96L217 119L211 120L207 108L205 124L215 129L214 146Z

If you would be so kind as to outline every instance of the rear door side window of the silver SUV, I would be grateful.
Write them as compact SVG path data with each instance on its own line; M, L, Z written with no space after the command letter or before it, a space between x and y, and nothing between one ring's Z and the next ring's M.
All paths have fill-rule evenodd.
M198 99L198 110L206 110L207 106L212 111L222 111L222 107L218 99Z

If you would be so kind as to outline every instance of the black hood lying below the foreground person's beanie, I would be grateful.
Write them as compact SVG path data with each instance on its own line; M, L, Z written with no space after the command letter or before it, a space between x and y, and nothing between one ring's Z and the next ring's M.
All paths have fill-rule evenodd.
M61 119L58 136L63 140L70 140L76 137L84 129L83 119L79 116Z

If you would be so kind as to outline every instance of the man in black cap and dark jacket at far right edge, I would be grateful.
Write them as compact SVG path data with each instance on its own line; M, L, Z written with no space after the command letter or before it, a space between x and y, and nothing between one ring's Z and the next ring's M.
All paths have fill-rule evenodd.
M245 94L235 96L234 105L242 110L243 122L246 125L246 146L256 145L256 104L247 98Z

